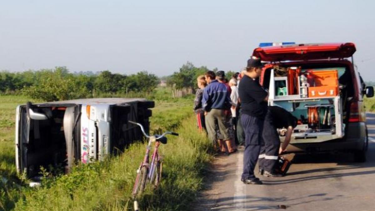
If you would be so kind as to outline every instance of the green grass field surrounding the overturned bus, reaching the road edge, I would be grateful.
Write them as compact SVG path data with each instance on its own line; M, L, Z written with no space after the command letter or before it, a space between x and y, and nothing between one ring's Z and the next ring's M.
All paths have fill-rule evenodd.
M180 136L169 137L168 144L160 147L164 157L162 184L139 199L141 210L189 210L202 187L205 165L212 158L207 153L210 143L204 134L197 133L192 96L154 99L151 130L174 130ZM39 188L29 188L21 181L14 164L14 114L16 105L27 100L24 96L0 96L0 171L6 178L0 181L0 209L132 210L130 192L144 143L131 145L119 157L77 166L69 175L46 177Z

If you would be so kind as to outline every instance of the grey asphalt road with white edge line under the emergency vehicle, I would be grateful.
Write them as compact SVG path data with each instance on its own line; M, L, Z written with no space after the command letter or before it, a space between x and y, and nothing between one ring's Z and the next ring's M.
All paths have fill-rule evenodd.
M375 210L375 114L367 114L367 161L351 154L297 155L282 178L257 175L263 185L240 181L243 152L218 157L194 210L373 211ZM258 170L258 168L256 168Z

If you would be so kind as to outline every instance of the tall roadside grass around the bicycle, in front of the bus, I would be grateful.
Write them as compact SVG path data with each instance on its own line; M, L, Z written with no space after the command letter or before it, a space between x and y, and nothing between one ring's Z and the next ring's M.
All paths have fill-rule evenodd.
M210 160L210 144L196 133L193 118L187 118L171 138L160 147L163 178L160 188L141 197L141 210L187 210L202 187L202 169ZM131 210L131 190L136 169L144 156L145 144L130 146L120 157L75 167L70 175L28 189L15 210ZM45 203L48 202L48 203Z

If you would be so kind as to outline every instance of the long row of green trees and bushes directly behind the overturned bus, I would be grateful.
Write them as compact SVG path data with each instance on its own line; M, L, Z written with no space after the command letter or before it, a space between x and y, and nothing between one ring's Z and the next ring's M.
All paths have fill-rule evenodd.
M152 92L159 78L147 71L136 74L72 74L64 66L24 72L0 72L1 93L23 93L32 98L57 101L92 98L101 93Z

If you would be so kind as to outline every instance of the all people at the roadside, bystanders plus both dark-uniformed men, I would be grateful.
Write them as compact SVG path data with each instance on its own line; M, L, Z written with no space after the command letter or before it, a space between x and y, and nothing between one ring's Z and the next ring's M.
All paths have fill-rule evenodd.
M284 152L297 119L281 107L268 106L269 93L259 83L263 65L252 57L241 73L228 81L224 71L207 71L197 78L194 111L200 131L205 131L214 148L229 155L244 145L243 173L245 184L262 184L255 177L259 159L260 174L277 177L275 171L280 153ZM288 128L280 146L276 128ZM267 128L263 130L263 128Z

